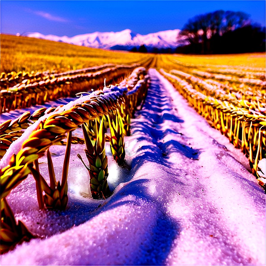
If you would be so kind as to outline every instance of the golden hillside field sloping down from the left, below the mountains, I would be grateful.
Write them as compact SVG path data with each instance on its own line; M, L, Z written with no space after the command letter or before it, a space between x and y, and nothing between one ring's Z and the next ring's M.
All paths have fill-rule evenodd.
M113 63L132 64L149 56L107 51L29 37L1 34L1 72L66 71Z

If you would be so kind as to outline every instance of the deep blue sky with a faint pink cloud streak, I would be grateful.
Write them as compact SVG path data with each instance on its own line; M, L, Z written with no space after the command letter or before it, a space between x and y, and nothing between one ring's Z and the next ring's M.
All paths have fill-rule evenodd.
M131 29L140 34L182 29L189 18L215 10L243 11L265 26L266 1L0 1L1 33L69 37Z

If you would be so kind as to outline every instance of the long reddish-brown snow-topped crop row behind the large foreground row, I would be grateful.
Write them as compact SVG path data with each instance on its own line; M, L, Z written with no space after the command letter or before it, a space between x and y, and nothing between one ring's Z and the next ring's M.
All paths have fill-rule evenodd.
M45 80L35 81L26 79L25 82L17 86L1 90L1 112L30 107L36 104L58 99L60 97L74 96L75 94L97 89L103 84L103 79L107 82L117 79L127 72L132 71L138 64L117 65L111 68L104 68L94 73L79 73L63 75L52 79L47 76ZM88 69L87 69L88 70Z

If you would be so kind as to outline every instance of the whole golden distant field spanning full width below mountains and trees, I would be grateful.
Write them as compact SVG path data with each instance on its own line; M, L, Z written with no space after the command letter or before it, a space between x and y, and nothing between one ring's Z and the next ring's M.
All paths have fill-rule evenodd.
M45 71L59 72L70 69L113 64L132 64L156 57L156 67L166 69L176 66L175 60L183 68L187 67L235 67L255 70L265 69L265 53L229 55L181 55L147 54L124 51L101 50L61 42L53 42L29 37L1 34L1 72ZM171 66L172 65L172 66Z

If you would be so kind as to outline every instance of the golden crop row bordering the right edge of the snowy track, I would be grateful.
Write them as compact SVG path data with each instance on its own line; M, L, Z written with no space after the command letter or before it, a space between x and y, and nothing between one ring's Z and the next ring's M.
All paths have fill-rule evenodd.
M254 112L254 106L249 102L246 102L249 107L246 109L212 96L207 97L206 94L198 91L199 86L195 83L189 83L189 80L171 75L163 69L160 72L175 85L180 94L199 114L228 137L236 148L242 149L248 156L252 173L258 178L259 184L265 188L265 178L258 166L260 161L263 163L265 160L265 115Z

